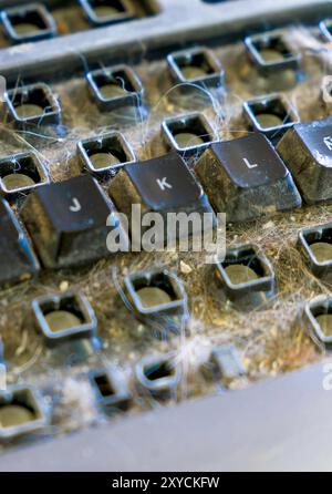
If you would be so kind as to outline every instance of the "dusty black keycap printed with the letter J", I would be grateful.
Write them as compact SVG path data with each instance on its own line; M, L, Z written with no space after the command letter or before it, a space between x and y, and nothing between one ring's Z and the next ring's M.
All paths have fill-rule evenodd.
M45 267L60 268L106 257L112 203L91 176L38 188L22 218Z

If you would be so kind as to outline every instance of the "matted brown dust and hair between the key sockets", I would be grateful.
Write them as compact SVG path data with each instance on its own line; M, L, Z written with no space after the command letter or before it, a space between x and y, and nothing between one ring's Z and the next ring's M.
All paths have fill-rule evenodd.
M287 94L303 122L325 117L329 109L321 100L324 63L321 64L317 47L312 48L308 33L301 31L299 37L295 31L290 35L297 47L308 40L303 50L308 79ZM248 131L241 113L242 102L264 93L260 92L259 84L248 83L252 69L242 44L217 49L216 54L225 64L228 89L218 97L193 84L187 88L186 97L184 86L169 89L172 81L166 76L165 62L143 62L137 72L148 97L147 116L144 109L100 113L83 78L52 84L62 102L62 126L18 132L3 122L0 128L2 154L34 150L46 164L52 181L63 181L82 173L75 151L77 141L103 132L121 130L139 159L168 151L162 137L160 122L181 113L203 111L222 140L245 135ZM103 184L105 189L108 185ZM234 343L248 369L249 381L274 377L320 360L319 350L299 323L299 315L305 301L330 294L331 287L311 275L299 253L297 239L300 228L330 222L331 212L331 206L303 207L271 219L228 227L228 246L258 245L277 275L277 296L266 307L249 313L239 312L231 306L216 279L215 268L204 265L200 256L193 254L121 255L81 271L43 271L37 280L6 290L0 301L0 336L9 366L8 382L34 383L49 397L53 408L50 433L61 433L105 420L94 406L87 383L86 374L94 368L113 364L123 369L134 393L131 413L136 413L158 406L147 398L139 400L134 389L135 363L149 353L175 353L183 368L180 399L216 392L217 384L206 381L201 373L201 366L207 364L214 346ZM167 340L156 339L152 328L137 321L122 291L125 275L157 266L167 266L178 272L189 300L187 330ZM102 341L100 352L92 351L75 366L70 361L65 366L58 360L54 350L45 348L31 312L34 298L59 292L64 286L86 295L95 310L97 335ZM237 388L236 383L234 387Z

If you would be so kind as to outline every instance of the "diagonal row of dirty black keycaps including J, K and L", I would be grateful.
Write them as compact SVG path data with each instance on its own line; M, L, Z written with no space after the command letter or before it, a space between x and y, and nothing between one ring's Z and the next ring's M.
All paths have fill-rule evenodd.
M331 199L329 125L325 122L295 126L278 146L307 200L308 197L311 199L313 189L313 202ZM298 145L290 141L294 137L299 140ZM325 157L324 147L328 152ZM19 164L15 169L13 163ZM212 214L214 208L217 213L226 213L228 222L245 222L301 206L292 175L261 134L212 144L195 165L199 183L176 153L126 164L108 186L115 206L89 175L42 185L42 166L25 154L17 159L4 159L3 171L3 174L0 171L0 176L4 194L25 192L30 187L30 178L35 181L34 191L21 207L21 218L46 268L80 266L107 257L107 218L110 215L116 217L115 207L125 213L128 220L132 206L136 204L141 205L143 213L162 213L165 218L167 213L180 212L198 213L203 217L205 213ZM10 184L13 184L12 188ZM10 255L20 259L14 263L17 271L12 274L8 265L3 267L2 281L6 285L10 280L32 276L38 267L22 233L18 241L15 231L19 226L4 202L1 203L1 215L2 248L6 250L10 241L14 246ZM196 233L190 231L190 236Z

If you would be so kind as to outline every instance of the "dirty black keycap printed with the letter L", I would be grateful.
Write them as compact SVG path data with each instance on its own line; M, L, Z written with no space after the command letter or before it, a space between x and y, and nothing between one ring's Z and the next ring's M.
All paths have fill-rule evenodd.
M301 206L292 176L261 134L215 143L195 172L216 212L243 222Z

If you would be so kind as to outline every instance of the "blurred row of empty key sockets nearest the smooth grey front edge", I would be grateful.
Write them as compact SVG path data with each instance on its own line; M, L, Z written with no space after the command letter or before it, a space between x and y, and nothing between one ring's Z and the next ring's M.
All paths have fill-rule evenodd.
M216 347L199 372L219 388L246 378L247 370L237 349L232 346ZM181 363L173 353L155 353L143 358L128 377L113 366L92 369L86 381L91 387L91 398L100 413L108 416L126 412L142 399L165 402L180 399L183 380ZM89 393L89 391L86 391ZM0 443L19 441L29 435L52 434L52 406L37 388L27 384L9 385L0 391Z

